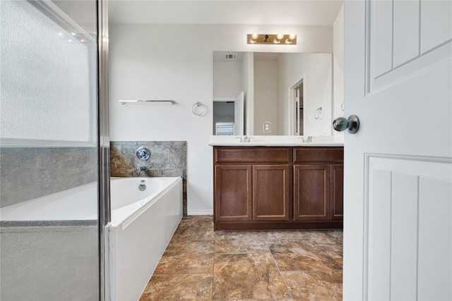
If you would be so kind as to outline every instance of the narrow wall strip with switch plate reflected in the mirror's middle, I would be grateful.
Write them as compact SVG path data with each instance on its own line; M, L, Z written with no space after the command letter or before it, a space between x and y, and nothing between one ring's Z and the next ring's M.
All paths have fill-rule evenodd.
M275 135L277 124L278 68L276 61L254 61L254 135ZM263 133L270 121L271 133Z

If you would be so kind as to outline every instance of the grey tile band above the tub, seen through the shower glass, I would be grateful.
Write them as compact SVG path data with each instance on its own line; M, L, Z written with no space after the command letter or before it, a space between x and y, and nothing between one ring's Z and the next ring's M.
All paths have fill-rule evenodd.
M1 147L0 207L97 180L96 147Z

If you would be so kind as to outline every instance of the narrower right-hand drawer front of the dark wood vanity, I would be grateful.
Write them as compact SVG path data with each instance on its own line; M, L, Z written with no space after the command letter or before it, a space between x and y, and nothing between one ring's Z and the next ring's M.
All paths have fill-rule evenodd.
M294 149L295 163L342 163L343 147L297 147Z

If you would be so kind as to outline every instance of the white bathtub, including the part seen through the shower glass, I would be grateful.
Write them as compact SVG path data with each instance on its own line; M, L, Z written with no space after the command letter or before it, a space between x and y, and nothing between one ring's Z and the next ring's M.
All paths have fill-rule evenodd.
M110 188L107 300L138 300L182 219L182 178L112 178ZM75 220L97 220L97 183L0 209L0 221Z

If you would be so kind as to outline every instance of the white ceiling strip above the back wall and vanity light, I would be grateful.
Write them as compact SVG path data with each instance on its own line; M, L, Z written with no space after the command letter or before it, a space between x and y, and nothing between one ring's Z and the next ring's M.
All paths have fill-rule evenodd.
M326 25L343 0L109 0L109 23Z

